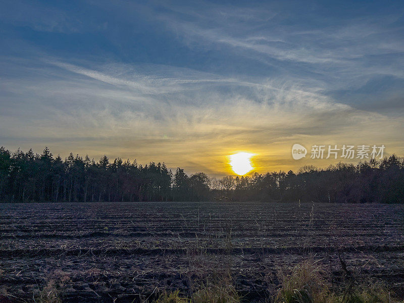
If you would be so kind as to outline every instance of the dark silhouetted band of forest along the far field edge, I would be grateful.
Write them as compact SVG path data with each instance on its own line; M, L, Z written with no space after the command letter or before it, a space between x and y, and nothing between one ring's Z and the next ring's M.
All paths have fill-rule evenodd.
M100 201L301 201L324 203L403 203L404 160L392 155L357 165L337 163L252 176L210 178L187 175L164 163L139 165L107 156L62 159L45 147L11 153L0 148L1 202Z

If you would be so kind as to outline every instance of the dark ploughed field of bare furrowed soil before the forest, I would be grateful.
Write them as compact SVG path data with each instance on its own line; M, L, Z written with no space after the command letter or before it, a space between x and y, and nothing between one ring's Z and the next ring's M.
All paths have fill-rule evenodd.
M0 204L0 293L32 300L54 279L67 302L191 291L228 268L246 301L312 258L404 294L404 206L284 203Z

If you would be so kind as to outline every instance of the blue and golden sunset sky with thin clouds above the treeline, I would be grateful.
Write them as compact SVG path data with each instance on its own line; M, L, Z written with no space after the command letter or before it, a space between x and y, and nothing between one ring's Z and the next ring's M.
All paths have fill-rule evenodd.
M259 173L337 162L315 144L404 156L403 93L402 1L0 1L10 150L213 176L238 151Z

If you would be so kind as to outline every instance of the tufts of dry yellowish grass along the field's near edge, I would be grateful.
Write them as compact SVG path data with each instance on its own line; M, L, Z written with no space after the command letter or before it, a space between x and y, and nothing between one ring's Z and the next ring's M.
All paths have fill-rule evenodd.
M280 288L269 299L274 303L396 303L399 302L381 283L359 284L357 279L331 290L329 273L313 261L302 262L292 269L281 270ZM52 276L34 298L34 303L62 303L67 276ZM195 282L190 295L182 295L179 290L166 291L157 299L144 302L153 303L240 303L241 297L234 287L230 269L215 272L206 277L205 282ZM334 289L334 288L333 288ZM6 295L9 297L9 294ZM15 297L14 297L15 298ZM404 303L404 301L403 301Z

